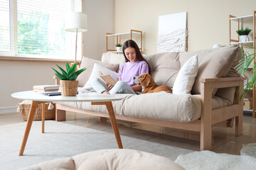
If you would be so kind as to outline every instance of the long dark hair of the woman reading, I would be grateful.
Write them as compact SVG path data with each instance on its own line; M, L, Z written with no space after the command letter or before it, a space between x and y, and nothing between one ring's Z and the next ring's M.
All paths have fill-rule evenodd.
M137 60L146 62L146 60L142 56L142 53L139 50L139 47L138 47L137 43L134 40L127 40L126 42L124 42L124 45L122 47L122 51L123 51L123 54L124 54L125 62L129 62L129 60L127 59L127 57L125 56L125 53L124 53L124 50L127 49L127 47L133 47L135 49ZM148 62L146 62L146 64L148 64L148 66L149 66ZM149 68L149 74L150 74L150 68Z

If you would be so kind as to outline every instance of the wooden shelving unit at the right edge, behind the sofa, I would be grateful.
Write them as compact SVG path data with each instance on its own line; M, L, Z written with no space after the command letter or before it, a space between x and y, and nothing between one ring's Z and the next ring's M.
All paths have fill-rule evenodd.
M250 16L240 16L240 17L236 17L236 16L232 16L230 15L229 18L229 41L230 41L230 45L240 45L241 47L255 47L255 39L256 39L256 35L255 35L255 15L256 15L256 11L253 11L253 14ZM238 29L240 29L241 27L243 27L244 23L250 23L252 22L252 40L248 41L248 42L240 42L240 38L238 35L238 40L234 40L231 38L231 22L236 22L238 23ZM255 49L253 49L253 53L255 53ZM255 64L255 59L253 60L253 64ZM250 69L252 69L253 67L249 67ZM254 72L255 73L255 72ZM256 118L256 114L255 114L255 108L256 108L256 86L253 86L252 89L252 110L245 110L245 111L251 111L252 112L252 117Z

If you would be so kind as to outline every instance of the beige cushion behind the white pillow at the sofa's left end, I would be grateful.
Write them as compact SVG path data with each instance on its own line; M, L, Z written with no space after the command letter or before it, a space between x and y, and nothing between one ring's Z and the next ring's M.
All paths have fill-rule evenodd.
M107 62L101 62L99 60L93 60L87 57L82 57L82 62L80 65L80 68L87 68L85 72L82 72L77 80L79 81L78 86L82 87L85 86L85 83L89 80L90 74L92 74L92 69L94 64L100 64L103 67L106 67L107 69L112 70L113 72L117 72L119 69L119 64L109 64Z

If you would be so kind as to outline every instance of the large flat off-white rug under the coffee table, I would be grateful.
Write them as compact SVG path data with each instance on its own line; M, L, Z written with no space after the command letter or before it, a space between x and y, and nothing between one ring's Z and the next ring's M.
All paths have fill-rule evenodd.
M45 133L42 134L41 121L34 121L24 154L19 157L25 128L26 122L0 126L0 169L19 169L84 152L117 148L114 134L109 132L47 120ZM126 149L158 154L173 161L179 154L193 152L122 135L121 138Z

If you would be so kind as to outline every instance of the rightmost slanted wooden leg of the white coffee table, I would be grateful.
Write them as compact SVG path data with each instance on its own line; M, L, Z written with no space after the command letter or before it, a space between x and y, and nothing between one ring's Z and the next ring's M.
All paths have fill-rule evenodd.
M119 130L118 130L118 126L117 126L117 120L115 118L114 115L114 108L112 106L112 102L106 102L106 106L107 106L107 111L110 114L110 121L111 121L111 125L112 125L112 129L114 130L114 135L116 137L117 140L117 145L119 147L119 149L122 149L122 140L119 134Z

